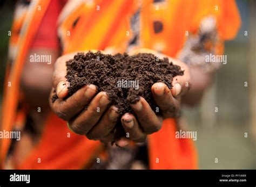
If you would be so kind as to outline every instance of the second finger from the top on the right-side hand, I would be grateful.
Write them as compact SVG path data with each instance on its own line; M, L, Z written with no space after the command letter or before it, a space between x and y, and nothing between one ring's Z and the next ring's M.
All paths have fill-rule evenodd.
M136 104L130 104L130 106L146 134L152 134L160 130L161 121L143 97L140 97Z

